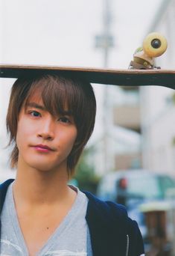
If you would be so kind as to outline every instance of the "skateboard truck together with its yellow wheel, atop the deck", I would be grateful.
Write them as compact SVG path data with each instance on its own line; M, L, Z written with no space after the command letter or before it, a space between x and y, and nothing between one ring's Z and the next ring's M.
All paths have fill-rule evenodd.
M167 49L166 38L157 32L153 32L144 38L143 46L136 49L133 61L130 61L129 69L153 70L160 69L154 66L154 58L162 55Z

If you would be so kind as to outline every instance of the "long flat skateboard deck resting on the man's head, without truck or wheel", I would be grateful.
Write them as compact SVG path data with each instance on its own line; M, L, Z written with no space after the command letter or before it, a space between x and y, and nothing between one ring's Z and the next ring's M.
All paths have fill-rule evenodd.
M115 70L88 67L56 67L36 65L0 64L0 77L19 78L39 73L66 73L87 79L91 83L105 85L160 85L175 89L175 70Z

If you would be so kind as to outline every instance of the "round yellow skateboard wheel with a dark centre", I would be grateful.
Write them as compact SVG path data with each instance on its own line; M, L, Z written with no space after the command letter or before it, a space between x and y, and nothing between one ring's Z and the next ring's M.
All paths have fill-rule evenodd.
M166 38L157 32L153 32L144 38L143 49L144 53L149 57L159 57L167 49Z

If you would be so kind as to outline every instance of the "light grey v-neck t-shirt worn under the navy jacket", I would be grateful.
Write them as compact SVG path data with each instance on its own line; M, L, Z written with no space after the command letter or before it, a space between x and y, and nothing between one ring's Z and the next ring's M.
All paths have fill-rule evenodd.
M89 228L85 219L87 204L88 198L77 189L77 198L71 210L36 256L92 256ZM28 256L13 201L13 183L7 190L1 224L0 255Z

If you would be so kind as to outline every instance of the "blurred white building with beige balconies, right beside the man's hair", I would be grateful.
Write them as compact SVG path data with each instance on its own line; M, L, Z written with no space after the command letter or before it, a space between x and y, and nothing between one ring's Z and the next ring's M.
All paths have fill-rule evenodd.
M141 168L141 119L139 88L108 85L106 107L98 104L95 134L89 141L89 161L98 174L121 169ZM99 115L99 114L98 114ZM103 118L104 117L104 118ZM99 129L104 127L104 129Z

